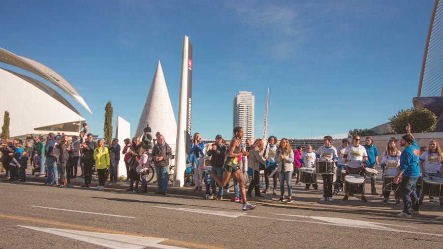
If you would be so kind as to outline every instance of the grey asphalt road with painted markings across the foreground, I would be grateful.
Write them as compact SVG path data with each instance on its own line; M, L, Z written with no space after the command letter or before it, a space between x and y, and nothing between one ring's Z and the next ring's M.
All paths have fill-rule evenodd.
M443 218L0 182L0 248L441 248Z

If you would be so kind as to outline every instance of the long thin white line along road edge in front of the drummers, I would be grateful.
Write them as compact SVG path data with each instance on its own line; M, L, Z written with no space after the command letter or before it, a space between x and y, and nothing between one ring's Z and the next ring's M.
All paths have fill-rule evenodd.
M274 214L279 215L279 214ZM296 215L285 215L285 216L294 216L294 217L302 217L302 218L312 218L310 216L296 216ZM345 226L345 227L355 227L355 228L366 228L366 229L375 229L375 230L384 230L384 231L391 231L391 232L399 232L399 233L413 233L413 234L420 234L420 235L431 235L431 236L438 236L443 237L443 234L437 234L437 233L424 233L424 232L414 232L414 231L407 231L407 230L398 230L390 227L384 227L384 226L378 226L378 225L364 225L364 224L344 224L344 223L326 223L326 222L319 222L319 221L310 221L310 220L296 220L296 219L283 219L283 218L272 218L272 217L261 217L261 216L245 216L245 217L251 217L251 218L264 218L264 219L274 219L274 220L281 220L281 221L290 221L290 222L301 222L301 223L312 223L312 224L320 224L320 225L334 225L334 226ZM325 217L319 217L319 218L325 218ZM340 218L331 218L332 219L340 219ZM354 220L354 221L361 221L361 220ZM380 223L379 223L380 224ZM385 224L389 225L389 224ZM402 226L407 227L407 226Z

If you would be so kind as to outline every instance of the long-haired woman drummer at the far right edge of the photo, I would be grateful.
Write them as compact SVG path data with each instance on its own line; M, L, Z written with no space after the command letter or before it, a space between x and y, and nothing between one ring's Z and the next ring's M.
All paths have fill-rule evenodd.
M427 176L430 177L443 177L443 155L442 149L440 148L439 142L432 140L429 143L429 151L426 151L420 156L420 171L426 173ZM425 175L422 174L421 179L423 179ZM420 199L418 203L423 204L424 194L420 192ZM437 202L437 200L433 197L429 197L429 199L433 202ZM443 207L443 197L440 197L440 206Z

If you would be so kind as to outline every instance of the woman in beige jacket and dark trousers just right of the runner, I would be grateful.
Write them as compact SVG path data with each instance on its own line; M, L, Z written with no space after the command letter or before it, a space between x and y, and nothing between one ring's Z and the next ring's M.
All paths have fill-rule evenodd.
M264 197L262 194L260 194L260 187L258 186L259 183L259 176L258 172L260 171L260 163L265 165L266 159L263 158L262 155L263 151L263 140L257 138L255 139L255 142L253 145L249 148L249 156L248 156L248 168L251 168L253 170L252 173L252 181L249 184L247 195L249 197L252 197L252 191L255 190L255 197Z

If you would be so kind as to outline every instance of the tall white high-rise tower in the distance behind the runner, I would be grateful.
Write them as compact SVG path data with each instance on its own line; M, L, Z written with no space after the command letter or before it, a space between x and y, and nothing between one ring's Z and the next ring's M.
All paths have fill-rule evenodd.
M242 143L245 143L247 138L254 138L254 105L255 96L252 92L240 91L234 98L234 118L233 126L243 127Z

